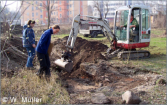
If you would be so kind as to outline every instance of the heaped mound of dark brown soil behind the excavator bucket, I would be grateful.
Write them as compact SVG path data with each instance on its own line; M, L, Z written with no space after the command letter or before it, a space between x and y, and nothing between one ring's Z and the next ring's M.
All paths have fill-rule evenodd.
M54 47L50 57L51 61L60 59L62 51L66 50L65 45L67 43L67 39L68 37L64 37L63 39L54 41ZM77 75L75 72L79 70L80 64L83 62L97 63L98 60L105 59L105 57L102 56L101 52L105 52L107 48L108 47L106 45L98 41L87 41L85 39L77 37L72 55L72 61L74 65L71 75ZM55 66L55 64L52 64L53 68Z

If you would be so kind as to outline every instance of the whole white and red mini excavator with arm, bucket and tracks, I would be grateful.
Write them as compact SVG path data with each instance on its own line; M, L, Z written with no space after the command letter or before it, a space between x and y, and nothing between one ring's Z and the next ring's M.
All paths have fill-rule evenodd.
M82 16L83 17L83 16ZM119 7L115 11L114 29L111 30L109 23L103 18L86 16L88 20L81 19L80 15L74 17L70 31L66 51L61 59L55 60L60 68L70 72L73 68L72 51L82 24L100 25L105 36L110 42L110 47L104 54L107 58L118 57L119 59L148 58L150 52L136 50L148 47L150 44L150 13L145 5L128 5ZM90 20L91 19L91 20ZM132 20L135 19L135 26Z

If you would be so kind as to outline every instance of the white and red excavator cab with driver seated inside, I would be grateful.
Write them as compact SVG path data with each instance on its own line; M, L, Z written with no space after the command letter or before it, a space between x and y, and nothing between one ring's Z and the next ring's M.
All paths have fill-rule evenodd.
M147 6L123 6L118 8L115 14L114 34L118 47L136 49L149 46L151 24Z

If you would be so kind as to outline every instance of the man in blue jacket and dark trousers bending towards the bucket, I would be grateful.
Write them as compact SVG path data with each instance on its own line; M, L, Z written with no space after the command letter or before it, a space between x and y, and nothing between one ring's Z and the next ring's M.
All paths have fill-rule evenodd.
M51 35L58 33L60 30L60 27L58 25L54 25L50 27L50 29L46 30L41 38L39 39L39 42L36 47L38 60L40 63L40 69L37 72L37 76L40 78L42 77L43 73L45 72L45 78L48 81L51 74L50 74L50 60L48 55L48 48L51 42Z

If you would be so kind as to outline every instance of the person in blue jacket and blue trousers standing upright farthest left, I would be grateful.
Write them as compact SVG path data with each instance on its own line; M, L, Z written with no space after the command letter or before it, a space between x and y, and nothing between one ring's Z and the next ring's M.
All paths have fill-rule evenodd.
M33 27L35 25L35 21L29 20L26 25L23 27L23 47L26 48L28 53L26 68L27 69L34 69L33 68L33 59L35 57L35 35L33 31Z

